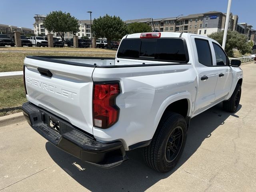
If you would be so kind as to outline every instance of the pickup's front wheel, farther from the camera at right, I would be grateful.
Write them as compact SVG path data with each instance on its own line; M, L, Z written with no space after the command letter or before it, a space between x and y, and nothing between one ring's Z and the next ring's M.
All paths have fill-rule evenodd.
M236 110L239 106L241 93L242 93L241 85L237 84L232 96L230 97L230 99L228 101L224 101L222 103L223 109L225 111L231 112L231 113L236 112Z

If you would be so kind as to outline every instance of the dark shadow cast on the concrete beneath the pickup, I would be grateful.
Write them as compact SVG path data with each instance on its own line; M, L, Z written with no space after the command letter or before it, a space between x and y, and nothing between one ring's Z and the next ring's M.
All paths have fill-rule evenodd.
M238 110L240 108L241 105ZM218 126L224 124L230 115L239 118L235 114L224 112L222 105L218 104L191 119L188 139L181 159L174 170L164 174L152 170L145 164L142 148L127 152L129 160L111 169L82 162L50 142L46 143L46 150L58 166L90 191L145 191L182 166L196 152L202 142L209 138Z

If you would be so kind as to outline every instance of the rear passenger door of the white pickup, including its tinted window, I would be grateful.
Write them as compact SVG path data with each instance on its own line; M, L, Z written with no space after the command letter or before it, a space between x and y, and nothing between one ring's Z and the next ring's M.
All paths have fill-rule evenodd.
M214 104L218 70L213 67L209 40L192 36L192 43L194 44L195 63L198 72L198 88L194 106L194 115L196 115Z

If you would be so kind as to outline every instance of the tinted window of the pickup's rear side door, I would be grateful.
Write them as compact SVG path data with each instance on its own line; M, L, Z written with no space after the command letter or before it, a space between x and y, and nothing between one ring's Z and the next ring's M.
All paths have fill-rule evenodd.
M195 39L198 62L205 66L212 66L212 53L208 40Z

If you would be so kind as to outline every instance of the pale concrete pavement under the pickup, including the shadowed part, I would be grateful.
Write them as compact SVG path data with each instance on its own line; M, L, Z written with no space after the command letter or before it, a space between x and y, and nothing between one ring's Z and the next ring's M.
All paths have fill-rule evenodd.
M180 162L169 173L150 169L142 149L112 169L81 162L27 122L0 125L0 191L254 192L256 191L256 62L242 65L239 110L218 104L191 120Z

